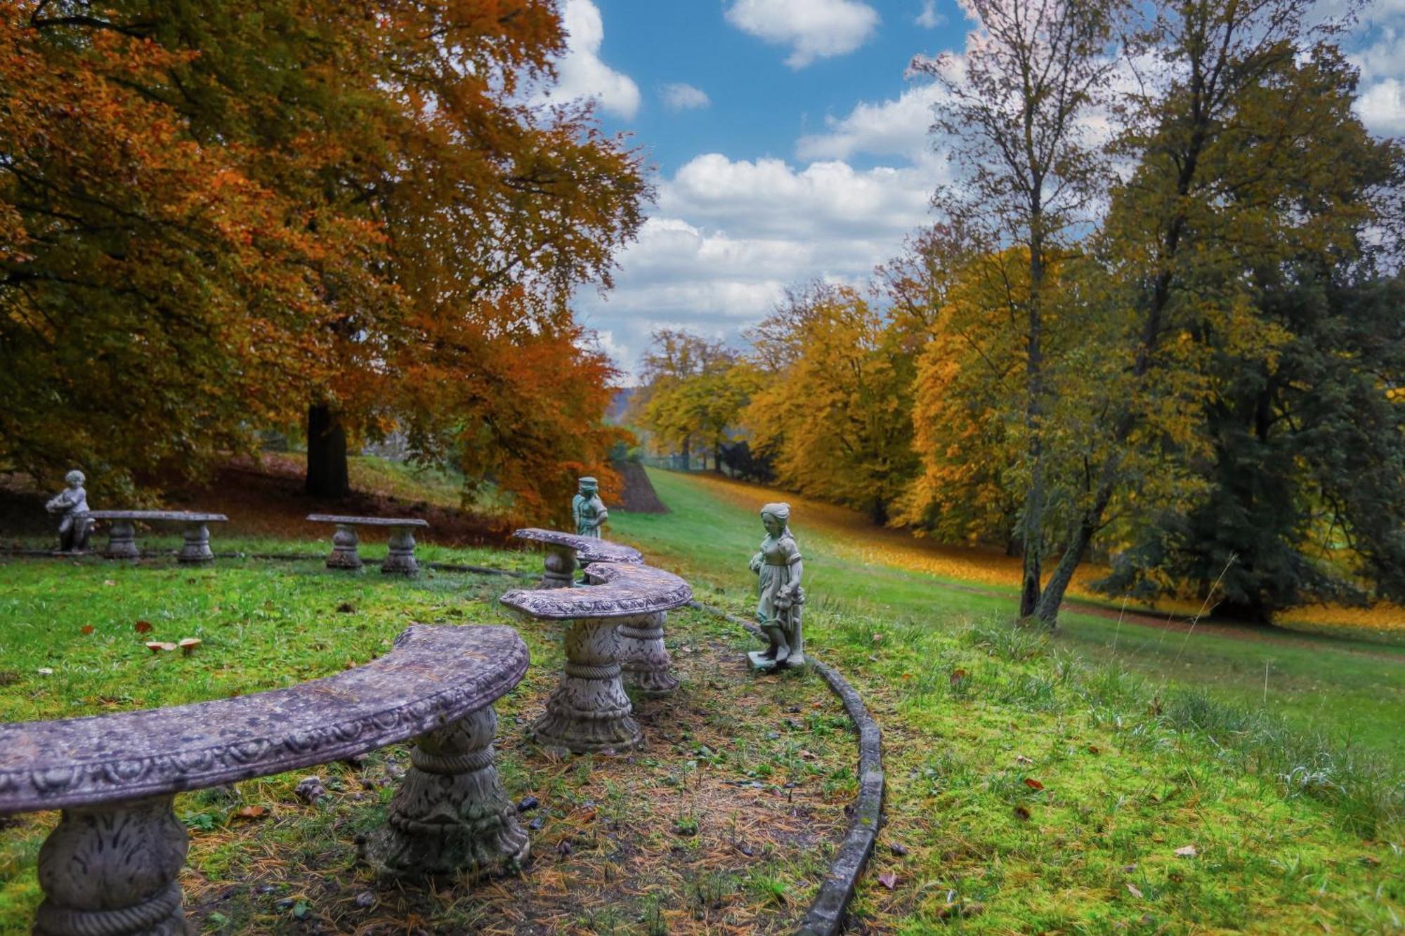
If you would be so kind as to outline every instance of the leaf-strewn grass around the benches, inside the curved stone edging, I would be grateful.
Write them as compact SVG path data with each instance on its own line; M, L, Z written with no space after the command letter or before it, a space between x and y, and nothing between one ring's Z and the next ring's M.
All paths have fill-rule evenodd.
M325 551L312 541L229 545ZM424 552L541 568L531 552ZM406 748L395 745L360 767L325 765L244 781L233 794L178 795L176 811L191 833L185 912L198 932L794 930L857 787L837 700L818 677L753 679L743 654L750 639L684 609L670 616L667 638L681 687L666 701L636 701L645 746L621 759L549 758L524 734L559 677L561 628L509 617L497 596L521 585L490 575L332 572L318 559L221 559L200 569L167 558L0 559L0 717L249 694L364 663L412 623L510 623L532 665L497 704L497 763L513 800L541 804L523 814L532 846L525 874L433 888L377 878L355 839L384 822L407 766ZM201 638L194 655L152 655L143 645L183 637ZM292 794L309 773L329 790L315 805ZM56 819L0 819L0 933L30 929L41 898L35 862Z

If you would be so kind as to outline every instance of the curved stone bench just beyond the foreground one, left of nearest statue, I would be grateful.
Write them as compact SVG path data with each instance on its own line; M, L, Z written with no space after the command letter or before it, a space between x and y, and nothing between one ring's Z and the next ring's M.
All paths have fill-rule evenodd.
M693 600L679 576L648 565L593 562L592 585L516 589L499 599L518 614L566 621L566 665L547 713L531 734L542 748L569 753L621 753L642 741L620 680L621 625L652 628L658 616ZM662 645L663 632L659 630Z

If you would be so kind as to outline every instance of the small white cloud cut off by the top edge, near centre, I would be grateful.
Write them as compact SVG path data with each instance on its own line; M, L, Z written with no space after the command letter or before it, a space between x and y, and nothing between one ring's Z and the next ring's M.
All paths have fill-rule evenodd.
M726 21L773 45L788 45L785 65L847 55L878 27L878 11L861 0L735 0Z

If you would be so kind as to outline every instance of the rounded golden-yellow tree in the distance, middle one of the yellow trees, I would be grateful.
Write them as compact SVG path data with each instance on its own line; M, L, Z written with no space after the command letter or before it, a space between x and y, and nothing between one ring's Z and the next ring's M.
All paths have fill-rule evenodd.
M812 284L750 334L757 367L776 367L742 413L752 447L780 483L885 523L916 469L916 343L847 287Z

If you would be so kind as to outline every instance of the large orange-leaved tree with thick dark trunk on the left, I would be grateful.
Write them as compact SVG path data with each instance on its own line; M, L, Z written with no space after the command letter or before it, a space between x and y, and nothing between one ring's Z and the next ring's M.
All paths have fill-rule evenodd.
M157 332L174 351L159 364L171 370L195 364L195 349L209 353L192 370L197 381L211 375L218 401L191 406L200 394L171 391L170 409L149 417L153 457L139 467L160 461L156 453L195 465L195 450L208 460L250 426L285 422L295 405L308 412L318 493L344 490L348 430L392 424L410 430L419 457L455 457L481 479L514 479L509 492L528 512L559 499L545 488L568 490L569 474L600 461L613 438L600 427L603 405L582 406L596 406L610 371L573 322L569 297L584 280L608 285L648 188L638 157L599 134L589 105L524 103L552 80L552 56L563 51L555 4L261 0L207 10L39 0L6 15L17 53L0 67L11 70L3 87L17 117L0 129L8 159L0 218L14 240L3 252L14 288L0 298L11 319L30 322L35 305L97 302L133 319L149 311L155 290L37 278L45 259L177 284L194 275L181 257L200 266L200 288L176 301L187 333L162 333L174 320L164 316L138 327L110 319L60 339L142 357L124 336ZM21 136L65 112L67 149ZM178 160L198 169L170 171ZM98 207L107 214L94 215ZM198 252L153 249L205 230L211 243ZM46 253L34 249L41 243ZM216 337L212 302L226 292L247 330ZM53 340L52 326L24 327ZM260 358L271 364L260 370ZM414 386L410 374L437 384ZM563 391L559 374L596 384ZM76 372L60 382L70 401L83 381ZM563 409L573 419L524 422L548 392L570 398ZM30 408L37 422L62 409L62 396L48 401ZM174 412L181 401L190 415ZM197 431L183 430L192 423ZM163 424L180 440L174 448L150 431ZM17 458L58 458L41 457L25 431L7 448L32 455ZM545 434L523 451L535 464L517 464L517 436L534 431ZM93 448L74 443L66 458L91 460Z

